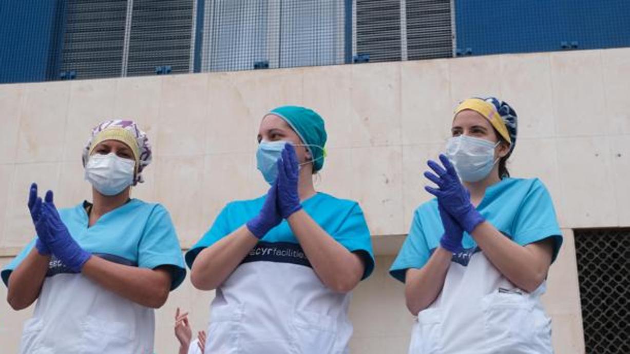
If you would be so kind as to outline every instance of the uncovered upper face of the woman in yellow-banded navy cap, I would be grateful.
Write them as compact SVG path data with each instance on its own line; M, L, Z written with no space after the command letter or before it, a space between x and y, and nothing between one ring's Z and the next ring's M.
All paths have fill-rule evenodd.
M453 137L466 135L477 139L484 139L496 144L500 141L499 135L496 133L492 124L482 115L473 110L463 110L453 120L453 126L450 129ZM495 147L495 157L500 158L510 151L510 146L503 140Z

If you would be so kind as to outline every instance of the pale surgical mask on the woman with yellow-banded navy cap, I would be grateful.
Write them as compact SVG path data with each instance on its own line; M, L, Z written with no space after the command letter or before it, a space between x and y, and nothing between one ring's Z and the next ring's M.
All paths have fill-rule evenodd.
M446 156L455 166L455 171L462 181L481 181L495 166L495 147L498 146L485 139L459 135L452 137L446 144Z

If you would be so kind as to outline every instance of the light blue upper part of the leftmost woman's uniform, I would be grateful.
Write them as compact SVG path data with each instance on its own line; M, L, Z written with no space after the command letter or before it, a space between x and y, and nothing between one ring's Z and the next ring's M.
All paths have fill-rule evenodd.
M86 251L115 263L154 269L168 266L171 272L171 290L178 287L186 276L180 243L171 217L162 205L131 199L129 202L101 216L88 227L88 214L83 202L74 208L59 210L72 238ZM35 246L34 238L2 270L2 279L8 285L9 275ZM72 273L60 262L51 262L47 277L59 273Z

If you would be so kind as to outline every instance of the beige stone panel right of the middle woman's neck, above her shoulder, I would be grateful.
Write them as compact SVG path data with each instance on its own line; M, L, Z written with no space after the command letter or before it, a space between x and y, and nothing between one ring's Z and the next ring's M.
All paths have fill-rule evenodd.
M315 189L337 198L350 199L357 172L352 168L351 148L331 148L324 167L313 177Z

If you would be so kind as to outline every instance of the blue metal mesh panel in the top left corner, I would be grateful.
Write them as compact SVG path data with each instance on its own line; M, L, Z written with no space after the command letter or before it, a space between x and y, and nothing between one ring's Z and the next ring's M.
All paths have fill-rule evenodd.
M59 1L0 2L0 83L49 79L57 45Z

